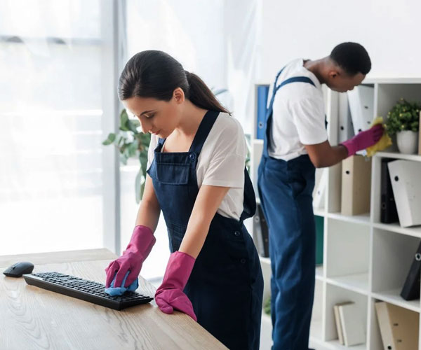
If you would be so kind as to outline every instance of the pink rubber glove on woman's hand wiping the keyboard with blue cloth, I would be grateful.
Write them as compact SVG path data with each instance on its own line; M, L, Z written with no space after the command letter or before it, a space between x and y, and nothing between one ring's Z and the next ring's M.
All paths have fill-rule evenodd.
M105 269L107 273L105 288L109 287L114 275L116 275L114 287L120 287L124 276L129 270L130 274L127 276L126 286L123 287L130 286L138 278L142 264L151 252L155 241L156 239L150 228L142 225L135 226L126 250L123 251L119 258L110 262Z

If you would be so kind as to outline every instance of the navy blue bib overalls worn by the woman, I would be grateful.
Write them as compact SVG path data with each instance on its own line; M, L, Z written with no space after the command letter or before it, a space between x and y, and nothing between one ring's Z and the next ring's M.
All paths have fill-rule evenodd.
M178 251L199 188L197 159L219 113L208 111L189 152L154 151L147 173L168 228L170 250ZM259 256L243 220L255 213L255 194L246 169L239 221L216 213L184 292L197 321L229 349L259 349L263 277Z

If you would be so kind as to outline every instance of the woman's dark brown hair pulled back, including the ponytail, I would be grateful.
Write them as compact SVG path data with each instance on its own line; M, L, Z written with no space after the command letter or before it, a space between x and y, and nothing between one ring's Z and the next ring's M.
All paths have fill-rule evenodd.
M128 60L119 79L119 98L152 97L169 101L180 87L192 104L211 111L229 113L209 87L166 52L147 50Z

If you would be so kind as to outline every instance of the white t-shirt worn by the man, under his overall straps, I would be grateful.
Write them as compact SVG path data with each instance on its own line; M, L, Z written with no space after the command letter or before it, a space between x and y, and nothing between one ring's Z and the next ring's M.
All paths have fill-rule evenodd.
M305 69L303 63L303 59L290 62L283 69L276 85L293 76L307 76L316 87L309 83L290 83L276 92L268 150L273 158L297 158L307 154L304 145L321 144L328 139L321 84L314 73ZM272 90L273 82L269 88L268 106Z

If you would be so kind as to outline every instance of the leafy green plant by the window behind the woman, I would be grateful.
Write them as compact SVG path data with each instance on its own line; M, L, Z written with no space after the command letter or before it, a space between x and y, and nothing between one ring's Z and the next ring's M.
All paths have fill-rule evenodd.
M127 165L128 158L138 158L140 169L135 179L136 203L140 202L145 190L147 151L151 140L149 132L144 134L139 129L139 120L128 118L126 109L123 109L120 113L119 133L108 134L107 139L102 142L105 146L114 144L119 149L123 165Z

